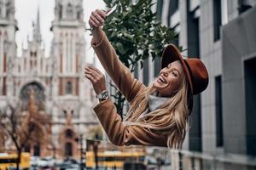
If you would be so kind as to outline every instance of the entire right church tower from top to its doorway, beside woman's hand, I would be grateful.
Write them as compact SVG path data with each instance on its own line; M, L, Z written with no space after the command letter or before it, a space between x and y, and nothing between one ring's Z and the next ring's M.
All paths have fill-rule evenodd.
M91 110L91 85L84 80L83 0L55 0L55 20L51 31L54 34L51 48L54 63L52 112L56 127L53 133L61 138L67 113L71 113L74 129L85 134L85 139L86 129L97 122Z

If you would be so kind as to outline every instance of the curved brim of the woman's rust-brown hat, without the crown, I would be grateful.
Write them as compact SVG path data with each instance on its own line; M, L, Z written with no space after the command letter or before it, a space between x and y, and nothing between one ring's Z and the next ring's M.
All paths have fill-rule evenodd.
M181 62L181 65L183 66L183 71L189 82L189 88L191 90L191 93L193 94L193 84L190 76L191 74L189 65L186 63L186 60L183 59L177 47L173 44L169 44L168 46L166 46L162 54L161 69L165 68L167 65L176 60L179 60Z

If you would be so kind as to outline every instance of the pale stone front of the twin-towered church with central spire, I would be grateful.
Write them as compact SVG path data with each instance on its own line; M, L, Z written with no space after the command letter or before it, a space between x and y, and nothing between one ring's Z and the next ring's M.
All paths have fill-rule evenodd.
M95 103L92 87L83 75L86 42L82 3L55 0L49 57L44 54L38 10L32 40L28 38L27 48L17 57L15 0L0 1L0 107L8 102L25 106L33 89L35 99L45 105L45 114L51 118L51 140L58 156L78 156L74 148L78 148L79 138L83 137L85 146L90 128L98 124L91 109ZM72 119L69 124L68 116ZM75 138L63 135L68 133L65 129L72 129ZM67 143L60 144L60 139ZM64 153L63 147L73 151Z

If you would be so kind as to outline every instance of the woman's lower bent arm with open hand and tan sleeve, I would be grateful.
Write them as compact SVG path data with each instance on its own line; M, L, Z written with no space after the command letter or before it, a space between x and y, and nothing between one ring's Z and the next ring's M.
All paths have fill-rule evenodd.
M92 82L96 94L106 89L105 78L101 71L94 67L86 67L84 74ZM94 111L108 134L108 139L113 144L166 145L163 133L152 132L152 130L145 127L125 125L119 114L117 114L115 105L109 98L101 99Z

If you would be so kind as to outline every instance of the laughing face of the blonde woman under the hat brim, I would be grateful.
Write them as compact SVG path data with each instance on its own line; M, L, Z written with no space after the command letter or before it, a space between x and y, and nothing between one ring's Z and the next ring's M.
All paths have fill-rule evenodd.
M159 96L170 97L176 94L183 82L184 72L179 60L173 61L160 71L153 86L159 92Z

